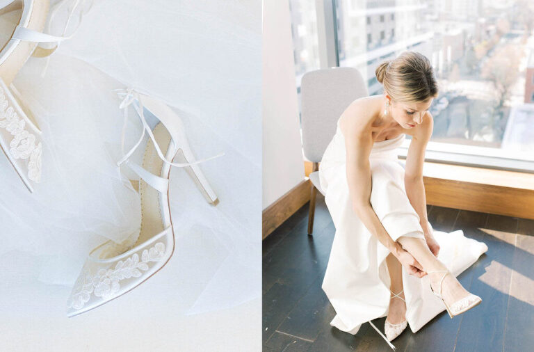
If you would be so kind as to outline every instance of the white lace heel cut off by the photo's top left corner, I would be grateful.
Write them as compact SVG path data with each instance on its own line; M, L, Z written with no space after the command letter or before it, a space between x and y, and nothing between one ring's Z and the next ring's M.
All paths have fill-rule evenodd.
M0 0L0 38L8 39L0 42L0 150L30 192L41 179L41 131L13 80L30 56L47 57L57 48L38 43L70 38L42 33L48 14L49 0Z

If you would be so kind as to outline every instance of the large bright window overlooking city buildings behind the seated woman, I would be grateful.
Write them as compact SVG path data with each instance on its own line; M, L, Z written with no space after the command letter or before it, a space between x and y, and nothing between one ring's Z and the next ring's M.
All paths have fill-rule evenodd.
M432 63L440 89L430 107L435 124L427 159L534 172L533 1L290 3L293 24L305 26L307 37L295 44L305 51L296 54L298 87L303 73L332 66L321 67L323 53L337 58L334 65L357 68L369 95L382 94L375 68L418 51ZM321 47L316 5L332 8L321 14L327 27ZM407 136L405 147L409 143Z

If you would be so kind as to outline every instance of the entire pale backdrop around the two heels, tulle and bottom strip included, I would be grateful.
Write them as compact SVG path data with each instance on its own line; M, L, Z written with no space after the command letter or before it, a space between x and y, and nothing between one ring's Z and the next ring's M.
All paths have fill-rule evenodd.
M95 1L40 77L45 61L31 58L15 79L43 131L33 194L0 157L0 346L261 348L261 1ZM122 111L111 90L126 86L181 115L198 159L225 152L201 164L220 203L207 204L173 168L170 262L69 319L66 300L90 249L139 227L133 174L115 166ZM130 116L127 146L141 132Z

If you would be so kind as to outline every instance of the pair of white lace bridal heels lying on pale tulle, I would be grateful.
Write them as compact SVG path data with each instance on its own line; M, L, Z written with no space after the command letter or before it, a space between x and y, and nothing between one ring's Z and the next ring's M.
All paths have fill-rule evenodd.
M0 149L31 192L34 182L40 182L41 178L41 131L31 109L23 103L12 82L30 56L50 56L60 42L72 36L65 35L65 31L74 10L80 7L82 1L70 2L72 8L68 11L63 36L55 36L42 31L49 13L50 17L54 17L56 10L66 3L65 0L58 1L51 11L49 0L0 0ZM46 49L38 46L42 42L56 45ZM106 241L91 251L67 300L69 317L121 296L145 282L168 262L175 246L168 199L171 166L185 167L204 198L212 205L218 204L216 193L197 166L197 163L213 157L194 161L179 116L163 102L136 90L122 90L120 95L124 98L120 105L124 109L124 123L127 122L130 104L133 104L143 123L142 136L125 154L123 129L124 157L118 162L118 166L127 165L140 177L140 232L122 243ZM154 128L149 127L145 113L153 115L153 120L159 120ZM139 166L130 157L145 134L149 135L149 139L143 166ZM218 156L220 154L215 157Z

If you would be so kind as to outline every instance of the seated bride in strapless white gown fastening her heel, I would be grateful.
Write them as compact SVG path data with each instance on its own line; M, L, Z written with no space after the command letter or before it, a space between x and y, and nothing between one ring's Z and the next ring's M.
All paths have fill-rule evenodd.
M376 77L385 93L348 106L319 167L336 227L323 290L337 312L332 326L355 334L387 314L389 343L409 321L415 332L443 306L452 318L478 305L481 298L455 276L487 246L432 232L427 219L423 161L433 127L428 109L438 95L428 58L405 51L379 65ZM412 140L404 169L395 149L406 134ZM429 292L440 299L423 300Z

